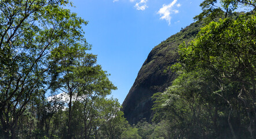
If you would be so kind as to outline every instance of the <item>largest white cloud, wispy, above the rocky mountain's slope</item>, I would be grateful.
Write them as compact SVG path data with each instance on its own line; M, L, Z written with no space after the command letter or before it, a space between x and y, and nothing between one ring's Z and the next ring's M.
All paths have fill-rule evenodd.
M176 9L173 9L175 3L177 3L177 0L174 0L173 2L171 2L169 5L163 5L162 8L159 9L158 14L160 14L160 19L162 20L166 20L168 22L168 24L171 24L171 16L170 14L172 13L178 13L179 11ZM179 8L181 6L180 3L178 3L176 5L177 8Z

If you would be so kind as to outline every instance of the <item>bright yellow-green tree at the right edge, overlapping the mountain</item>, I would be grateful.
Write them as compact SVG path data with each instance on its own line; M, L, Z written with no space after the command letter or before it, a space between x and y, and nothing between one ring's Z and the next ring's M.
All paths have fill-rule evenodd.
M246 125L251 138L255 137L255 21L252 14L212 22L191 45L180 47L186 71L203 69L214 76L217 89L212 92L230 107L228 122L233 138L231 114L237 104L247 112Z

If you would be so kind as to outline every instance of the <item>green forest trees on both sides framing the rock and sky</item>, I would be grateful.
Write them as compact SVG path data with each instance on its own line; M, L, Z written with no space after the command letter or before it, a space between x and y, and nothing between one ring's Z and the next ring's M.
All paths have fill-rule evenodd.
M129 125L68 0L0 1L0 138L256 138L256 2L204 0L153 119ZM246 8L247 12L237 12ZM185 30L184 28L183 30Z

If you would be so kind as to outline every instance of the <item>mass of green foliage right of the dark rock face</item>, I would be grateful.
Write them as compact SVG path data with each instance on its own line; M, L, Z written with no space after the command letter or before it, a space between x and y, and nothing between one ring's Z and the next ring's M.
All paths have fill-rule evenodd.
M154 120L169 120L172 138L255 137L255 21L220 19L180 45L178 77L153 96Z

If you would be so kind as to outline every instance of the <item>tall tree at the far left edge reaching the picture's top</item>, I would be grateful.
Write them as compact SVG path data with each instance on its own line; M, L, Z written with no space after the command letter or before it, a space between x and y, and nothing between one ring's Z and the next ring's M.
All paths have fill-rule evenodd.
M5 138L16 138L27 104L42 93L47 57L63 43L85 43L82 24L64 0L0 2L0 120Z

